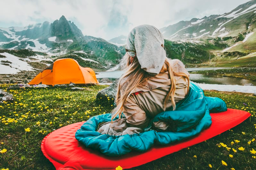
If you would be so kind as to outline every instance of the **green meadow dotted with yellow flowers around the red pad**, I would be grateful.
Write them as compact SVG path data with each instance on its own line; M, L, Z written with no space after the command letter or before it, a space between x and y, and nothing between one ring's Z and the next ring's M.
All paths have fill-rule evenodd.
M54 169L41 151L43 138L63 126L88 120L113 109L96 102L96 94L106 86L70 88L32 88L7 90L14 100L0 103L0 170ZM220 97L228 108L252 115L240 125L205 142L191 146L132 169L255 169L256 97L238 92L205 91ZM115 165L116 167L118 165ZM121 166L121 165L120 165Z

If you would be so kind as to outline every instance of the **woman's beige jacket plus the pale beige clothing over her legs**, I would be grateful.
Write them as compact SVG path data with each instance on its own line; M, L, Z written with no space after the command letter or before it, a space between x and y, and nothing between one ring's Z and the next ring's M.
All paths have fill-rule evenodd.
M170 60L170 66L176 73L189 73L185 69L183 63L178 59ZM183 76L175 76L176 91L175 102L177 103L186 96L188 81ZM113 124L105 124L104 128L100 128L100 133L109 135L125 135L143 132L143 128L149 125L149 122L158 113L164 110L164 100L170 91L171 81L168 72L159 73L156 76L148 78L143 84L132 91L123 107L125 119L116 120ZM121 95L123 88L121 88ZM171 99L166 106L166 111L172 108ZM125 123L126 122L126 123ZM168 127L164 122L156 122L153 126L159 129Z

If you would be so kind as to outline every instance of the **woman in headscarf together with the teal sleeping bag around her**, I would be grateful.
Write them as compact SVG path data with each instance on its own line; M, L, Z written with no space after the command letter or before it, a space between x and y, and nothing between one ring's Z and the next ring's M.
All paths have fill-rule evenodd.
M126 51L113 114L91 117L75 134L86 147L108 156L145 152L199 134L212 123L210 111L226 111L224 101L189 83L181 61L166 58L163 36L152 25L132 29Z

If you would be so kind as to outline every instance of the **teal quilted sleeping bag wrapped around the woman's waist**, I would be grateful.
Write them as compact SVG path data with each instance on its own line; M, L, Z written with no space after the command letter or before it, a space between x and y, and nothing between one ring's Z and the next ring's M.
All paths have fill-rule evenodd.
M121 156L132 150L145 152L152 145L167 145L197 135L211 125L210 112L226 110L226 103L222 99L205 97L203 90L190 82L189 94L176 104L176 110L162 112L153 119L153 122L172 123L172 129L168 131L149 130L122 136L101 134L96 131L98 124L111 121L111 114L102 114L87 120L77 130L75 137L86 147L97 149L108 156Z

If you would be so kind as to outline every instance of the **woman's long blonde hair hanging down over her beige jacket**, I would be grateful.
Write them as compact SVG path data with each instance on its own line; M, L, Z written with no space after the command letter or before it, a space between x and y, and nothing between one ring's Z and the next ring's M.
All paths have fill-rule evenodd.
M131 95L131 92L138 87L141 83L143 83L147 78L149 78L152 75L149 75L146 71L141 69L141 65L139 64L139 61L137 57L133 58L133 61L131 62L128 52L123 57L123 61L121 65L123 64L125 66L125 73L120 77L119 82L117 84L117 95L115 99L115 103L117 107L113 109L113 118L115 118L117 115L119 115L119 118L121 116L121 113L123 112L123 106L125 104L125 101L128 99L128 97ZM168 71L170 80L171 80L171 89L166 95L166 98L164 100L164 111L166 110L166 105L168 103L168 100L171 97L171 102L173 106L173 110L176 109L176 104L174 101L175 96L175 90L176 90L176 80L174 76L185 76L188 80L188 88L187 93L189 90L189 77L185 73L175 73L172 70L172 67L170 67L168 58L165 59L164 65L160 71L160 73L165 73ZM121 95L121 88L123 88L123 94Z

